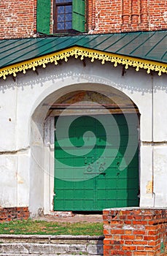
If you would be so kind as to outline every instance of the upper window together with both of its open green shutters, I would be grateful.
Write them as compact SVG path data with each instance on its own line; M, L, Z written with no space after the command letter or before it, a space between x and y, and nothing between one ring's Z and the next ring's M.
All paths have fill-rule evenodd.
M50 22L51 1L37 1L37 32L40 34L84 32L85 0L53 0L53 23Z

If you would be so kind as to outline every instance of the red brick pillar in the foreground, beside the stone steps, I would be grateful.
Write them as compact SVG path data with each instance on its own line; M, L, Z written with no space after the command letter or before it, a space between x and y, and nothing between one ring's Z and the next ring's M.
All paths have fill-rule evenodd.
M105 209L104 255L167 255L167 209Z

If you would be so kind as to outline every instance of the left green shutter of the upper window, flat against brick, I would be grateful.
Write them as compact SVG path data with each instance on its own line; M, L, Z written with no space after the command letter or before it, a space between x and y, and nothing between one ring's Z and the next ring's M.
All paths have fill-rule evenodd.
M37 32L50 34L51 0L37 0Z

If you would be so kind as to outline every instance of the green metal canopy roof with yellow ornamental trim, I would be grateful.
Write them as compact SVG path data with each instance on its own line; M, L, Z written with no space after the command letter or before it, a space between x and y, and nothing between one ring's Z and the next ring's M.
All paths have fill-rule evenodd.
M61 54L63 54L62 50L69 48L73 48L74 50L75 47L77 47L78 50L88 49L87 54L80 54L80 56L84 57L90 57L89 50L91 50L90 55L93 59L101 59L96 58L96 55L100 54L100 52L102 55L104 53L105 56L108 54L108 57L112 57L114 54L114 58L118 60L119 56L121 56L125 63L123 63L123 61L116 61L121 64L127 64L129 60L134 61L133 58L135 58L135 61L146 60L149 61L149 63L150 61L156 61L159 62L161 66L165 64L161 72L167 72L167 31L149 31L120 34L80 34L74 36L3 39L0 40L0 76L9 75L10 73L15 75L15 72L24 70L15 70L15 72L5 73L4 70L6 70L7 67L11 67L11 65L14 67L13 65L15 64L21 64L23 62L25 64L25 61L36 58L40 59L44 56L48 57L48 55L53 53L61 52ZM68 56L68 53L66 53L66 56L69 57L72 56L72 54ZM123 58L123 56L127 58ZM104 59L104 61L107 60L107 58ZM53 61L47 61L45 63L48 62ZM136 65L130 64L130 62L128 65L137 67ZM32 67L36 66L37 65L34 64L32 65ZM160 70L157 69L157 71Z

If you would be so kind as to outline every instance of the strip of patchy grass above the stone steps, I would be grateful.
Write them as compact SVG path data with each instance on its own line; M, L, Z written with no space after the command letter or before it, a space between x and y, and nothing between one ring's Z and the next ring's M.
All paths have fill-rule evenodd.
M15 220L0 224L0 234L15 235L103 235L103 223L46 222L39 220Z

